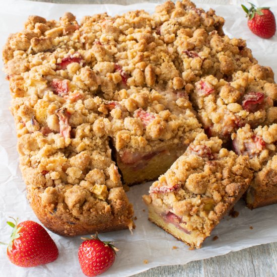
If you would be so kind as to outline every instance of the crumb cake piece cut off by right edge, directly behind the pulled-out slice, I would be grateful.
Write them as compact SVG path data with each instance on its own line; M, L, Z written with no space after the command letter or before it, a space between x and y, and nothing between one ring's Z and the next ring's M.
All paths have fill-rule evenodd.
M250 209L277 203L277 124L251 129L246 124L232 134L238 155L248 156L254 179L245 195Z

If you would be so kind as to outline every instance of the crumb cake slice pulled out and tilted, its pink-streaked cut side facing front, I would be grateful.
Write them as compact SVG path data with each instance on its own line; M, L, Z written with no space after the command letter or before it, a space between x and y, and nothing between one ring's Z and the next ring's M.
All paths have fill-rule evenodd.
M149 220L192 249L201 247L252 179L248 158L221 146L217 137L197 135L143 196Z

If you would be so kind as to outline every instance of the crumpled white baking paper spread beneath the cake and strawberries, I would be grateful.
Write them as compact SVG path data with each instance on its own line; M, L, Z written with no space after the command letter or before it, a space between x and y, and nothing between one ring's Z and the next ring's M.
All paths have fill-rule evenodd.
M23 29L23 23L29 15L39 15L47 19L58 19L64 12L72 12L80 20L85 15L107 12L110 15L121 14L129 10L145 9L153 13L157 4L118 5L62 5L29 1L1 1L0 10L0 47L8 35ZM254 4L270 6L277 15L275 0L267 2L252 1ZM262 65L268 65L277 72L277 38L261 39L247 28L240 1L230 0L230 5L200 4L207 10L213 8L226 19L224 31L230 37L242 37ZM1 64L3 67L3 63ZM16 132L14 119L9 111L11 101L9 84L4 73L0 73L0 241L9 241L11 228L6 224L9 216L23 220L38 219L26 199L26 190L18 167L16 151ZM159 265L185 264L189 261L224 255L254 245L277 241L277 204L250 211L242 200L235 210L239 217L226 216L216 227L212 236L199 250L189 250L180 241L150 223L147 209L141 195L148 192L150 183L130 188L128 197L134 205L136 229L101 234L106 241L114 241L120 249L114 265L103 276L130 276ZM250 229L250 226L253 229ZM251 227L251 228L252 228ZM52 263L35 268L21 268L13 265L7 258L6 247L0 247L0 275L27 277L82 276L78 262L78 248L81 238L64 238L49 231L59 249L58 259ZM218 239L213 241L213 237ZM178 247L172 249L173 246ZM145 264L144 260L148 260Z

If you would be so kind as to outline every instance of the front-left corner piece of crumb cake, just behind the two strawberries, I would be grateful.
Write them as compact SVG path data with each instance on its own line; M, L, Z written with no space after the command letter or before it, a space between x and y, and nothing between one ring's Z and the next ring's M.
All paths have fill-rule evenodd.
M77 127L67 148L59 134L19 138L20 168L38 219L63 236L132 229L133 209L123 190L108 141L89 124ZM79 143L84 146L77 151Z

